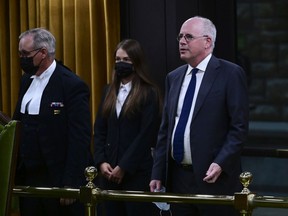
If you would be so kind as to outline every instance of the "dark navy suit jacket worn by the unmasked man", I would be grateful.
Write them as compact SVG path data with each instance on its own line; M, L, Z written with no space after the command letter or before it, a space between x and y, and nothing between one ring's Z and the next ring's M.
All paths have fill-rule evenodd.
M186 69L187 65L181 66L166 78L164 111L152 171L152 179L163 183L169 176L171 136ZM190 125L192 163L201 193L231 194L239 189L236 185L240 185L240 155L248 131L248 112L244 71L238 65L212 56ZM212 162L219 164L223 172L215 184L208 184L203 178ZM166 183L169 187L169 181Z

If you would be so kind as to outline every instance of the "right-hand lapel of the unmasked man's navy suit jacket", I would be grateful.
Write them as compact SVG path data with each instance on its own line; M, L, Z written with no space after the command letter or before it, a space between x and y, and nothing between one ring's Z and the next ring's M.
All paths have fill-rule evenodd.
M207 65L207 68L206 68L206 71L205 71L205 74L204 74L204 77L203 77L203 80L202 80L202 83L198 92L198 96L197 96L197 100L196 100L195 108L194 108L194 113L193 113L193 119L195 119L195 117L197 116L197 113L201 109L201 106L203 105L205 98L207 97L214 83L214 80L218 76L218 70L217 70L218 67L219 67L218 60L214 56L212 56Z

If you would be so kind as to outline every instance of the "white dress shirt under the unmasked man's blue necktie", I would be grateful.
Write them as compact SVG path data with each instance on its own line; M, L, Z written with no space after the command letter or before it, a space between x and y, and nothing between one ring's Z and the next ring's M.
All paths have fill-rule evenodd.
M200 62L196 68L198 68L198 72L196 74L196 86L195 86L195 92L194 92L194 97L193 97L193 101L192 101L192 106L191 106L191 110L190 110L190 114L189 114L189 118L186 124L186 128L185 128L185 132L184 132L184 157L183 157L183 161L182 164L192 164L192 155L191 155L191 144L190 144L190 125L191 125L191 121L192 121L192 116L193 116L193 112L194 112L194 108L195 108L195 103L197 100L197 96L198 96L198 92L202 83L202 79L204 77L204 73L207 67L207 64L211 58L212 54L208 55L202 62ZM175 116L175 125L174 125L174 129L173 129L173 134L172 134L172 157L173 157L173 140L174 140L174 133L176 130L176 126L178 124L179 118L180 118L180 114L181 114L181 110L182 110L182 106L183 106L183 102L184 102L184 97L189 85L189 82L191 80L192 77L192 67L190 65L188 65L187 71L186 71L186 75L184 77L183 83L182 83L182 87L180 90L180 95L179 95L179 99L178 99L178 106L177 106L177 113Z

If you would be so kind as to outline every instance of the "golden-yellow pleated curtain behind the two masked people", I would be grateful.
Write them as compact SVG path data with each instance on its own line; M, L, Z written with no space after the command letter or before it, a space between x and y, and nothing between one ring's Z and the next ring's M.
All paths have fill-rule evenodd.
M89 85L93 122L110 80L120 40L119 0L0 0L0 110L12 116L22 71L18 36L44 27L56 37L56 58Z

